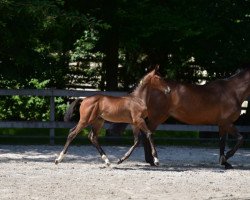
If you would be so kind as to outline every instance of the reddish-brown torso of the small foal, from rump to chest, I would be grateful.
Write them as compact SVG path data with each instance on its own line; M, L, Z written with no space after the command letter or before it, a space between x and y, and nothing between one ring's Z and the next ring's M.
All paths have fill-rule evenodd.
M80 119L91 124L97 118L110 122L134 123L135 118L145 118L144 102L132 96L95 95L85 98L80 106Z

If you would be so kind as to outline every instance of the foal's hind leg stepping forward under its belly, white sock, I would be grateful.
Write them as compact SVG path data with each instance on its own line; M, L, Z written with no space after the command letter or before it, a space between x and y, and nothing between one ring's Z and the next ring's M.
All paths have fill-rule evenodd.
M91 131L89 132L88 138L91 141L91 143L96 147L97 151L100 153L101 158L104 160L106 165L109 166L110 161L98 142L98 132L102 128L103 123L104 123L103 119L97 119L96 121L94 121L94 123L92 124Z

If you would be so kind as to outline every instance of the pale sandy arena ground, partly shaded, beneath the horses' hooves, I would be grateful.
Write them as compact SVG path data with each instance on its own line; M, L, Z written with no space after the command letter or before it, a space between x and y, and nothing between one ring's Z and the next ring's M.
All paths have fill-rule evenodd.
M142 147L115 164L128 149L104 146L105 167L92 146L71 146L54 164L62 146L0 145L0 199L250 199L250 150L240 149L218 164L218 149L158 146L159 167L144 162Z

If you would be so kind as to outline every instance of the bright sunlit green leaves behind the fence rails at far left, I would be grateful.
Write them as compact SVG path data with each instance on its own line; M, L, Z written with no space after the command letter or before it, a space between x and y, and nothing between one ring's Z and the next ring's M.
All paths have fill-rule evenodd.
M31 79L29 86L34 89L43 89L49 80L39 82ZM20 85L17 89L23 88ZM0 120L39 120L48 121L50 117L50 100L48 97L38 96L4 96L0 98ZM56 119L62 119L66 110L66 103L61 97L55 98Z

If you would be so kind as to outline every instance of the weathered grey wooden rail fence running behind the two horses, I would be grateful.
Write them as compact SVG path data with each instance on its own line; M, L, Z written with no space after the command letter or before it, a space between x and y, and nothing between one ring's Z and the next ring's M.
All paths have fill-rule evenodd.
M76 123L55 121L55 97L87 97L95 94L112 96L126 95L126 92L101 92L101 91L77 91L59 89L0 89L0 96L48 96L50 97L50 121L0 121L0 128L48 128L50 129L50 143L54 144L56 128L72 128ZM250 98L247 99L250 101ZM104 128L108 125L105 124ZM250 126L237 126L240 132L250 132ZM130 126L127 129L131 129ZM161 124L157 130L168 131L207 131L217 132L218 127L213 125L183 125L183 124Z

